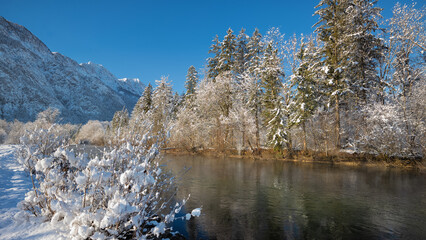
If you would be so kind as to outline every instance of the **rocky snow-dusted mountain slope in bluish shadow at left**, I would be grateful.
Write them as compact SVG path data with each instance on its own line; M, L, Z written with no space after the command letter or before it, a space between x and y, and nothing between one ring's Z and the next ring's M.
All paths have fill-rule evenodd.
M65 122L111 120L133 109L144 84L118 79L102 65L78 64L49 48L25 27L0 17L0 118L34 120L48 107Z

